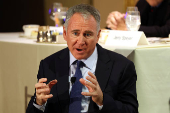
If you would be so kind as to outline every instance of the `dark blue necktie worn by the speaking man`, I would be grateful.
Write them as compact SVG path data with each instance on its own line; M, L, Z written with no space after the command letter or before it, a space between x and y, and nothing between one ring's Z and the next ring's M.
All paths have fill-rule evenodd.
M77 61L77 68L76 68L76 81L72 86L71 93L70 93L70 105L69 105L69 113L81 113L81 100L82 100L82 84L80 83L79 79L82 78L82 73L80 67L83 66L84 63L82 61Z

